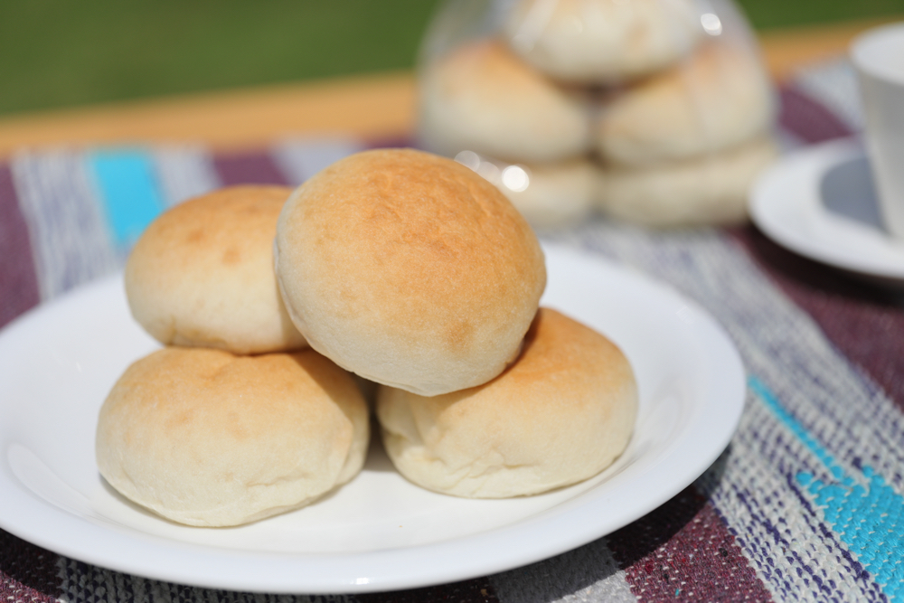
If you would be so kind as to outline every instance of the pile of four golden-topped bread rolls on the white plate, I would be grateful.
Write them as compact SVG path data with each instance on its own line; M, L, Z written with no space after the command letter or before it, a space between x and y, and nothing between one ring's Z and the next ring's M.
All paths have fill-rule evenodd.
M133 315L165 348L104 403L100 472L180 523L296 509L361 470L366 380L415 484L500 497L596 475L630 437L634 375L604 336L539 308L545 284L512 203L420 151L188 201L127 262Z

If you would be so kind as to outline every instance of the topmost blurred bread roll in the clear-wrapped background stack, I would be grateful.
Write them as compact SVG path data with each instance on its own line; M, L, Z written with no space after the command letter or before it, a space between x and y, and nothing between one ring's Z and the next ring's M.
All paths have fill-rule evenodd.
M504 33L558 80L608 84L679 61L703 30L692 0L517 0Z

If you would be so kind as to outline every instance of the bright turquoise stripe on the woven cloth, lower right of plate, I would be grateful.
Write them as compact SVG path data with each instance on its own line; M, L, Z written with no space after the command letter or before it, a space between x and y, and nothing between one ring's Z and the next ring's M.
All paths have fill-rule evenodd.
M863 466L866 485L847 476L829 452L778 401L756 377L749 386L769 410L822 461L835 478L833 483L799 472L797 483L814 497L825 522L857 555L890 601L904 598L904 496L896 493L871 467Z

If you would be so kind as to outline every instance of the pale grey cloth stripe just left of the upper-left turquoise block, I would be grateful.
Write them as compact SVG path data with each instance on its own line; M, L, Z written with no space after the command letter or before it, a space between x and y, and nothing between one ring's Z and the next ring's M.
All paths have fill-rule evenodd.
M34 253L42 300L98 278L122 262L81 153L23 152L10 162Z

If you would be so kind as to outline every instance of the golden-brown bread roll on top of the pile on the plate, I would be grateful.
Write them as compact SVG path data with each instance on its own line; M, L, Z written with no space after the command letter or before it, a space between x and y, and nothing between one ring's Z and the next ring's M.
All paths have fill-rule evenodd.
M302 184L276 249L289 313L315 350L428 396L502 372L546 286L540 244L503 193L410 149L351 155Z

